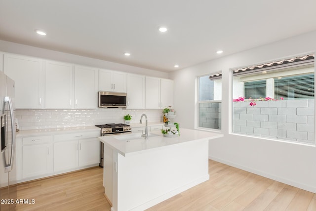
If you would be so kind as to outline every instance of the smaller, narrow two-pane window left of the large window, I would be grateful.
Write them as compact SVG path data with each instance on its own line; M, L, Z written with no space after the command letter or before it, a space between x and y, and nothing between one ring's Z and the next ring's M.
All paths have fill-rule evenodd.
M221 74L198 77L198 127L221 129Z

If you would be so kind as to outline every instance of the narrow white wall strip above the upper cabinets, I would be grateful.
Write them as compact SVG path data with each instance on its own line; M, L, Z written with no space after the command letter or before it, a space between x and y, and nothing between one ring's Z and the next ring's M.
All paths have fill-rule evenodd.
M44 48L18 44L14 42L6 42L6 41L0 40L0 51L39 57L39 58L50 59L50 60L56 60L56 61L62 61L62 62L68 62L68 63L85 65L85 66L91 66L91 67L102 68L102 69L117 70L117 71L122 71L122 72L135 73L135 74L141 74L141 75L147 75L147 76L153 76L153 77L159 77L159 78L168 78L168 73L165 73L165 72L160 72L156 70L150 70L150 69L145 69L145 68L140 68L140 67L135 67L135 66L130 66L130 65L118 64L115 62L109 62L109 61L100 60L100 59L93 59L89 57L78 56L75 54L64 53L64 52L55 51L55 50L47 50ZM0 59L0 65L1 65L1 59ZM1 65L1 68L2 68L2 65Z

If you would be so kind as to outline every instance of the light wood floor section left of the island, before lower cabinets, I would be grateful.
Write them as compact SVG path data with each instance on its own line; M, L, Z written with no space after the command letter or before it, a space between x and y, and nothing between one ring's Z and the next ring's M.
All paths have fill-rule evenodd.
M17 211L110 211L103 196L103 169L96 167L17 185Z

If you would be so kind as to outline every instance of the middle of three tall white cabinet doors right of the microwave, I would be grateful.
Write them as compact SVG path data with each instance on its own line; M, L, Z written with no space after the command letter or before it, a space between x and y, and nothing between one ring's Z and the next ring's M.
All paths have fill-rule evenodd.
M146 76L145 84L145 108L160 109L160 79Z

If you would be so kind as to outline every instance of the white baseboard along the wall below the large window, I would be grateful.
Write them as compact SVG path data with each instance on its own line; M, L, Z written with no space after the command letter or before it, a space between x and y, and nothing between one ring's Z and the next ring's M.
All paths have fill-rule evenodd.
M291 185L291 186L294 186L294 187L297 187L297 188L300 188L300 189L303 189L303 190L306 190L306 191L310 191L310 192L316 193L316 187L311 187L310 185L306 185L306 184L303 184L303 183L300 183L300 182L289 180L289 179L284 178L284 177L279 177L279 176L276 176L276 175L273 175L273 174L269 174L267 172L260 171L258 169L252 169L252 168L248 168L248 167L245 167L245 166L241 166L241 165L239 165L237 163L232 163L232 162L220 159L220 158L216 158L216 157L212 157L212 156L209 156L208 158L210 160L217 161L217 162L220 162L222 164L226 164L228 166L235 167L237 169L242 169L242 170L245 170L245 171L248 171L248 172L260 175L260 176L267 177L269 179L276 180L278 182L282 182L284 184L288 184L288 185Z

